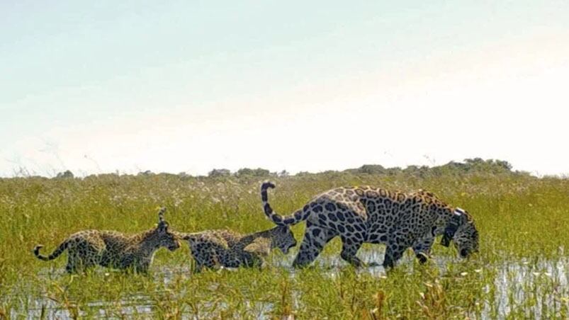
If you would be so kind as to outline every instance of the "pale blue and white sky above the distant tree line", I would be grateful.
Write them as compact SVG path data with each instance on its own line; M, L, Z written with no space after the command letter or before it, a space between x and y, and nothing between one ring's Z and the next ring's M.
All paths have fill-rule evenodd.
M569 1L0 1L0 176L569 173Z

